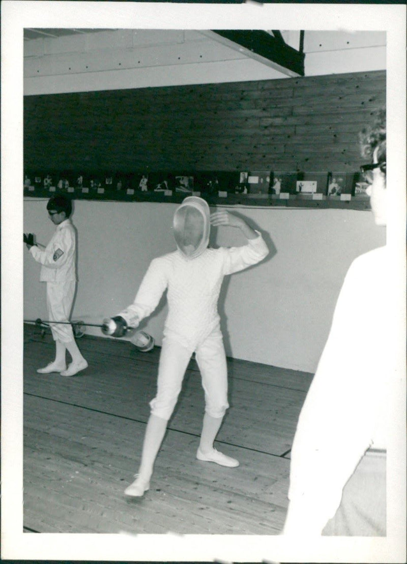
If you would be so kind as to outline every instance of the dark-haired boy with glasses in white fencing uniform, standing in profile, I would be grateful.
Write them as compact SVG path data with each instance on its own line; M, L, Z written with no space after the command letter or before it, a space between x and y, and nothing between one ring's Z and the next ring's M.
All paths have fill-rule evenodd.
M78 349L69 324L76 288L76 234L69 219L72 204L64 196L54 196L47 203L47 210L56 225L54 235L43 250L36 244L27 246L34 260L42 265L40 281L46 283L48 319L59 323L50 323L55 341L55 360L37 372L73 376L87 368L87 362ZM72 356L68 369L65 360L67 349Z

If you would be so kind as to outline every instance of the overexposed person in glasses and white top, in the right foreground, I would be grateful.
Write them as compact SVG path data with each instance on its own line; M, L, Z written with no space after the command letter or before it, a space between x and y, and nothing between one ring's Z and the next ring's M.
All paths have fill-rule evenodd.
M359 134L375 223L386 228L386 111ZM297 424L285 535L386 536L391 319L387 247L353 261Z

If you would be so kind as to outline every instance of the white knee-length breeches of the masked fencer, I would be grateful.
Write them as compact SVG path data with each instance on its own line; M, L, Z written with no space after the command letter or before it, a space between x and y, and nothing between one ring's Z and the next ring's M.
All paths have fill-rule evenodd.
M150 402L151 413L168 420L176 406L182 380L191 358L176 338L164 337L157 379L157 395ZM213 331L195 351L205 393L205 412L211 417L223 417L227 403L227 367L222 334Z

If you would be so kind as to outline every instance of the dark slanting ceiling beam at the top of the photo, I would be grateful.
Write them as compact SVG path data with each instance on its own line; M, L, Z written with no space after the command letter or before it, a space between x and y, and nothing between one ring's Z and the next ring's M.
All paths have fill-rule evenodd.
M261 29L213 29L200 32L283 74L304 76L305 54L287 45L279 32L276 37Z

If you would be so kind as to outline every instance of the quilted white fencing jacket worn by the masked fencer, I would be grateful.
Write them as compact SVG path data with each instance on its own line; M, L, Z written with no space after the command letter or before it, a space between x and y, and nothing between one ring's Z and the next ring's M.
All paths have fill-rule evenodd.
M178 226L177 213L184 208L186 200L176 211L174 225ZM199 202L195 209L198 208ZM207 215L204 208L205 206L199 211L206 218L203 222L204 230L200 243L195 245L195 252L192 253L194 257L186 256L178 248L173 253L155 258L148 267L134 303L119 314L130 327L137 326L139 321L155 310L164 291L168 289L164 337L176 339L191 351L212 331L220 330L217 302L224 276L255 265L269 253L258 231L259 236L248 240L244 246L207 248L209 208ZM179 223L182 224L182 221ZM178 240L182 243L182 237Z

